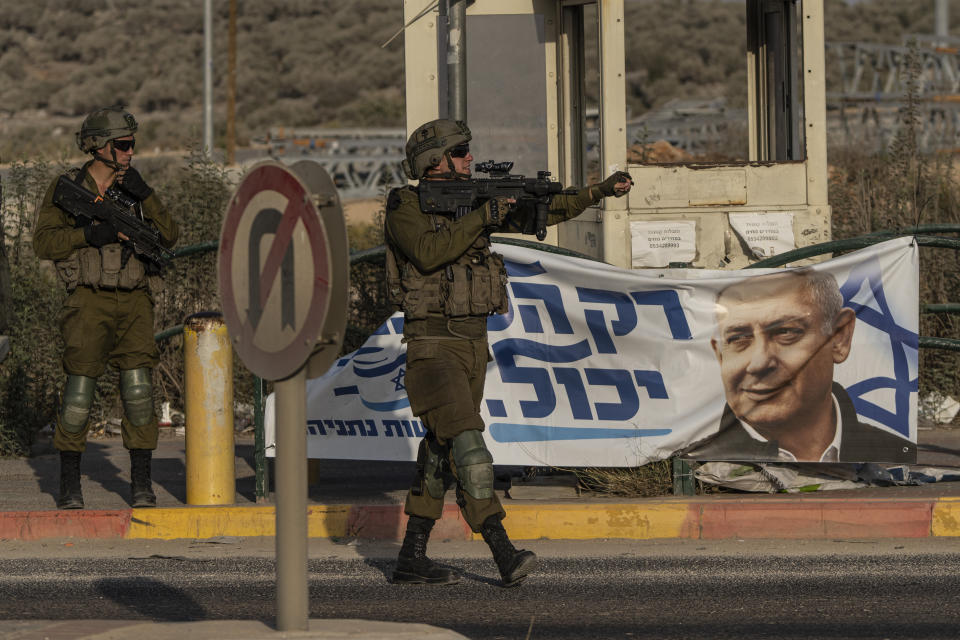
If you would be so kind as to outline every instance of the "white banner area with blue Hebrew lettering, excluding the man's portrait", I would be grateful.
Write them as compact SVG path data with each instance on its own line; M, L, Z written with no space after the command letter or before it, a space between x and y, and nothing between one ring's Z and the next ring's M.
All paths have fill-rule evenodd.
M487 325L493 359L482 416L497 464L637 466L716 434L728 401L734 406L716 347L718 294L783 272L624 270L495 249L510 277L510 310ZM856 312L849 357L833 358L821 377L846 389L854 422L915 443L916 244L890 240L813 270L832 274L843 306ZM307 382L310 457L415 459L424 429L410 413L402 334L395 315ZM266 427L272 455L273 396Z

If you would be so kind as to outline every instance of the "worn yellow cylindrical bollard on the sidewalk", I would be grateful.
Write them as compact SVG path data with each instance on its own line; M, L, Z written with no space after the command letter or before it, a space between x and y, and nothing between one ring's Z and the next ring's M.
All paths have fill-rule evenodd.
M187 504L234 504L233 349L219 313L183 328Z

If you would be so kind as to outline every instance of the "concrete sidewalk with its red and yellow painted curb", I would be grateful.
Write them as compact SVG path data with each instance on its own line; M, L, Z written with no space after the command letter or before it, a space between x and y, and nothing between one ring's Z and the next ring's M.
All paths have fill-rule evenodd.
M154 455L158 506L131 509L129 458L119 437L91 439L82 464L87 508L58 511L57 453L0 460L0 539L175 539L272 536L275 512L254 498L253 441L236 446L237 497L231 506L189 506L184 441L166 433ZM960 465L960 430L921 432L920 463ZM311 537L399 540L413 463L323 461L310 488ZM502 487L501 487L502 488ZM572 494L571 494L572 495ZM960 536L960 483L870 487L801 494L710 494L614 498L584 494L504 499L511 536L524 539L914 538ZM470 540L448 493L437 539Z

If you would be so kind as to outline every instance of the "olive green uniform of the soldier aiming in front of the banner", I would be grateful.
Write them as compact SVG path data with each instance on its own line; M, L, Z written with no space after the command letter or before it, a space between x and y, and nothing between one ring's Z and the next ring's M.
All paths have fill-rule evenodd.
M556 196L547 223L574 218L601 198L596 187ZM506 271L502 258L490 251L488 233L519 231L532 215L532 207L519 208L499 226L490 227L483 207L452 220L423 213L413 187L390 194L385 218L387 286L391 299L404 311L410 408L427 430L417 456L418 473L407 494L407 515L436 520L442 514L447 482L446 477L430 477L425 471L438 467L429 463L431 456L442 458L439 469L444 473L438 475L456 481L457 503L473 531L480 532L491 515L506 515L492 491L491 464L471 464L470 473L483 479L466 481L464 471L457 469L456 445L449 445L461 434L484 430L480 403L490 361L487 317L507 310ZM482 440L478 446L492 461ZM482 455L473 455L477 453L461 456L461 462L481 459ZM474 491L480 497L471 495L470 486L476 484L491 489Z

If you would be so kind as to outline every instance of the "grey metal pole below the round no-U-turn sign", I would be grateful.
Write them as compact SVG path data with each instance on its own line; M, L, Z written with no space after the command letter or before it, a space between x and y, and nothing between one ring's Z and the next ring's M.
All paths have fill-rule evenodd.
M277 393L277 630L306 631L307 369L278 381Z

